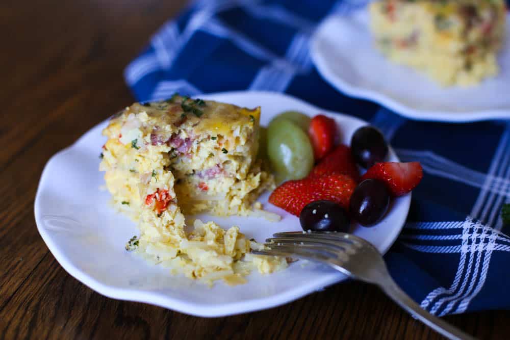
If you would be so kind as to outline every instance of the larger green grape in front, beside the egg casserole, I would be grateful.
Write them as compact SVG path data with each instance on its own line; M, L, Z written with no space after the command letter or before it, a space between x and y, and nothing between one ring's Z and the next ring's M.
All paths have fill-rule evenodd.
M275 119L267 128L267 154L279 179L306 177L314 165L308 135L287 119Z

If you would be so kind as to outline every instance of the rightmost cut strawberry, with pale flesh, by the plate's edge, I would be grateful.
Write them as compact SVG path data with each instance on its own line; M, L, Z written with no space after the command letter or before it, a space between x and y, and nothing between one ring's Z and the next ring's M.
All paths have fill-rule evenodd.
M401 196L416 188L423 178L423 169L420 162L377 163L362 176L362 180L367 178L384 181L393 196Z

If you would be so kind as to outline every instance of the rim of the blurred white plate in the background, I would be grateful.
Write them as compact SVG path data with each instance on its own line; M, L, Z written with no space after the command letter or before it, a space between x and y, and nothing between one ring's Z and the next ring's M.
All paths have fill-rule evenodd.
M331 71L331 68L328 66L328 63L325 61L325 58L322 57L322 53L320 53L319 40L320 37L322 36L322 32L324 31L324 27L326 27L326 25L329 24L330 21L336 20L339 17L343 16L352 17L355 15L360 15L364 11L366 11L365 7L362 9L349 12L346 15L341 14L328 15L327 17L324 18L324 20L322 20L319 23L312 36L311 39L312 61L316 66L317 71L321 75L321 77L323 77L323 79L331 86L336 88L337 91L346 93L349 96L355 98L371 100L381 106L384 106L394 111L398 115L417 121L469 123L490 119L510 118L509 113L510 109L475 110L458 113L444 110L421 110L419 108L410 107L399 100L396 100L390 96L382 94L381 92L351 85L349 82L342 79L342 77L337 76L335 72ZM507 18L508 20L510 20L510 13L507 14Z

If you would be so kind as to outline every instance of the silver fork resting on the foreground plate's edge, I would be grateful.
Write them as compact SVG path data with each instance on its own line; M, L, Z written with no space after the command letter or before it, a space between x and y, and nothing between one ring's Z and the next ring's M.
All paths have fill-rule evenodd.
M368 241L343 232L278 232L267 239L267 250L252 250L257 255L279 255L319 261L361 281L376 284L400 307L438 333L450 339L474 337L449 325L421 308L393 281L379 251Z

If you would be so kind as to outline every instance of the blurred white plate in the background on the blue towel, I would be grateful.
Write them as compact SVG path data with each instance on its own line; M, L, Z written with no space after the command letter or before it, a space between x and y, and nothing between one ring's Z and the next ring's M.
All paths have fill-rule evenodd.
M509 15L510 20L510 15ZM510 25L500 74L476 87L442 88L426 75L385 59L373 46L367 9L329 16L312 38L319 73L338 90L418 120L468 122L510 118Z

